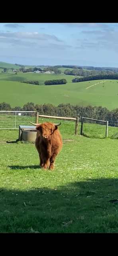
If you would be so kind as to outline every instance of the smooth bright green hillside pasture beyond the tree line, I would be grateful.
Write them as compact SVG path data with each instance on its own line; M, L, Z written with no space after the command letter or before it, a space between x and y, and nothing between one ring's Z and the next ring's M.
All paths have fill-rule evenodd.
M23 106L27 102L55 106L60 103L103 106L110 110L118 107L118 80L72 83L73 77L62 74L0 74L0 102L10 103L12 107ZM66 78L67 84L43 86L45 80L60 78ZM38 80L42 86L20 83L20 80Z

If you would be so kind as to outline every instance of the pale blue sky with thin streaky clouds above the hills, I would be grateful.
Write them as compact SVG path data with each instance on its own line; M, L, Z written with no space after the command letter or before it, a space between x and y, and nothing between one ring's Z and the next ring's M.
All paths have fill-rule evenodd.
M118 67L118 23L0 23L0 61Z

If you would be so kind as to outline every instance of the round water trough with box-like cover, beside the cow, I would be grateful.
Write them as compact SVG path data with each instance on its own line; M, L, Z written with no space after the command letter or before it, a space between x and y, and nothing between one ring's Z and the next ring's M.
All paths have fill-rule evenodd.
M36 134L35 126L19 126L19 140L35 142Z

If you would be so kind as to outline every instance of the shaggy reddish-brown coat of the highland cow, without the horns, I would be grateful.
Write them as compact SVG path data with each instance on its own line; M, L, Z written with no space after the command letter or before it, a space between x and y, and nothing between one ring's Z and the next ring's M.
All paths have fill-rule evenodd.
M39 153L40 166L44 169L53 169L54 161L60 152L63 142L58 127L51 122L36 126L37 137L35 146Z

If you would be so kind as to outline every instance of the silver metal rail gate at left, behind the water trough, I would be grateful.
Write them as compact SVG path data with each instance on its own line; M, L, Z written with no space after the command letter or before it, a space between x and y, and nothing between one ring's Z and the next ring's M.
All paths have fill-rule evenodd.
M18 129L19 125L35 122L35 111L0 111L0 129Z

